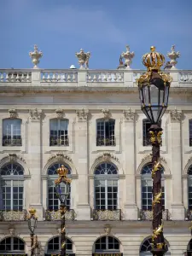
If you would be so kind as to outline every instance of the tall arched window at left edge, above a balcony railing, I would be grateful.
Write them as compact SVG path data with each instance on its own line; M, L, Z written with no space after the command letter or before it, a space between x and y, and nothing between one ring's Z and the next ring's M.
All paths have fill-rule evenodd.
M9 163L0 169L3 210L23 210L24 170L18 163Z

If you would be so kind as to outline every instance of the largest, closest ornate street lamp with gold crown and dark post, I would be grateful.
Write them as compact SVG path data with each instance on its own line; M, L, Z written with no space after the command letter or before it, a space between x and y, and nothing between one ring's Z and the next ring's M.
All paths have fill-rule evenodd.
M165 62L164 55L155 52L152 46L151 52L143 55L143 65L147 72L137 79L141 108L151 123L149 128L150 141L152 143L152 179L153 179L153 236L151 253L161 256L166 253L163 236L162 220L162 189L160 171L160 145L162 129L160 120L166 112L169 98L169 88L172 78L168 73L160 71Z

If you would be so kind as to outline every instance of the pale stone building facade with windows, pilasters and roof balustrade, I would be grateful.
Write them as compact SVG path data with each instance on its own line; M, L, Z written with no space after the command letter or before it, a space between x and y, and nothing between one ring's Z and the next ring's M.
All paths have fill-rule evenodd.
M172 75L160 148L166 255L192 249L192 71ZM0 254L59 253L56 168L72 178L67 253L150 255L151 146L136 79L142 70L0 70Z

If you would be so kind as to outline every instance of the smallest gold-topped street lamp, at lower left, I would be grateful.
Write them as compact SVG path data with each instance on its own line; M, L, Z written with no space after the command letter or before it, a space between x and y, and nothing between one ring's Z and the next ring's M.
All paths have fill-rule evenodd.
M33 207L31 209L29 209L29 216L28 216L28 228L31 232L30 236L31 236L31 255L33 255L34 253L34 232L35 229L37 228L37 224L38 224L38 218L35 215L36 213L36 209L34 209Z

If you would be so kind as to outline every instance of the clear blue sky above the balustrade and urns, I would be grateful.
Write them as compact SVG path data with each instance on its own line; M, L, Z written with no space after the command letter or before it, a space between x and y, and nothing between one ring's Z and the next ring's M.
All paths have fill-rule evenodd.
M90 68L115 69L129 44L137 69L151 45L166 55L176 44L177 68L192 69L192 0L2 0L0 34L1 68L31 68L38 44L41 68L79 67L83 48Z

